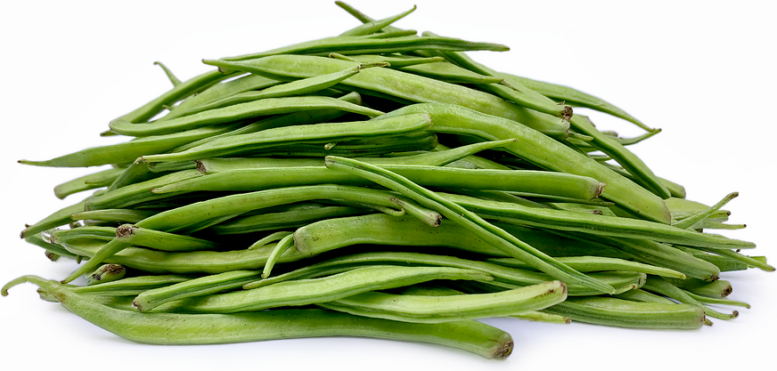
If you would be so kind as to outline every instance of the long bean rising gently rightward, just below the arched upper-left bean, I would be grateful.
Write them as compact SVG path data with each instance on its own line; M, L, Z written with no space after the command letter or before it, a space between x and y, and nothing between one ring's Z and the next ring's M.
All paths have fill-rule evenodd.
M143 156L140 159L145 162L196 160L202 157L218 157L240 153L249 149L278 147L299 141L348 141L383 135L393 136L426 132L430 126L431 119L428 115L407 115L405 117L397 117L397 119L386 122L385 125L380 125L379 121L371 120L275 127L258 133L219 138L183 152Z

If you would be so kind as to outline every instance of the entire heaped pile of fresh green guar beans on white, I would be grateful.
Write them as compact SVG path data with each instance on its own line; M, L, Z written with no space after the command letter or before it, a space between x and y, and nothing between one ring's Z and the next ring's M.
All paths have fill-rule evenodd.
M140 343L364 336L490 358L476 319L693 329L749 308L724 272L773 271L723 207L686 199L627 146L652 129L573 88L490 69L509 50L364 25L237 57L110 121L128 141L45 161L101 167L20 237L61 281L41 298ZM642 128L600 131L578 107ZM73 285L86 278L86 285Z

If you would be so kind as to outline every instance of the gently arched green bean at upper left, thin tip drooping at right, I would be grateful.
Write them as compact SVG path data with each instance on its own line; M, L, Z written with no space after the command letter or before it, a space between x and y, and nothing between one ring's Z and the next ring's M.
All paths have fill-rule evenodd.
M235 104L222 109L211 109L192 116L177 117L154 124L132 124L128 121L117 119L110 122L110 130L114 133L130 136L161 135L198 129L203 126L228 124L233 121L253 117L316 109L341 109L368 117L382 114L382 112L374 109L367 109L347 101L340 101L329 97L268 98L260 101Z

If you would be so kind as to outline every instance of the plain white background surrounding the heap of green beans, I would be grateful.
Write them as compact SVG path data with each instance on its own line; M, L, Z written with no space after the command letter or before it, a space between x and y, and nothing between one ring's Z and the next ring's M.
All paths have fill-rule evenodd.
M375 18L419 9L397 27L511 46L475 52L494 69L571 85L601 96L663 133L632 149L689 198L726 209L777 261L773 237L773 2L496 2L354 0ZM0 20L0 283L23 274L64 278L74 263L48 262L17 236L82 195L60 201L53 186L94 169L18 165L117 141L110 119L168 90L154 60L182 80L207 71L202 58L258 52L334 36L359 22L322 2L4 2ZM580 112L583 112L581 109ZM591 114L601 128L640 133ZM740 318L696 331L644 331L487 320L511 333L510 359L481 359L434 345L367 339L307 339L221 346L130 343L41 302L32 286L0 299L4 368L52 369L746 369L773 367L777 274L725 275ZM180 367L180 368L178 368ZM17 369L19 367L12 367ZM5 368L9 369L9 368Z

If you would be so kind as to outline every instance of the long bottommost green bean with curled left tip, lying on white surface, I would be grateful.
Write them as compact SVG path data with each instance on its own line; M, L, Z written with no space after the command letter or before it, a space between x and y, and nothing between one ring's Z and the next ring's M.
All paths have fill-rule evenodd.
M477 321L412 324L316 310L206 315L133 313L90 302L66 286L35 276L13 280L3 287L2 294L7 295L8 288L21 282L40 286L79 317L138 343L241 343L350 335L437 343L491 358L506 358L512 351L509 334Z

